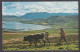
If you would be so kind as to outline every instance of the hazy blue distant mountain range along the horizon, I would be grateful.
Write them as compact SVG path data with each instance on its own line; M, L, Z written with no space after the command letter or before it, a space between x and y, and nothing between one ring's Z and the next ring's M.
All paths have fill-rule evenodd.
M78 13L47 13L47 12L35 12L35 13L27 13L23 16L13 16L13 15L3 15L7 18L23 18L23 19L40 19L40 18L48 18L51 16L73 16L78 15Z

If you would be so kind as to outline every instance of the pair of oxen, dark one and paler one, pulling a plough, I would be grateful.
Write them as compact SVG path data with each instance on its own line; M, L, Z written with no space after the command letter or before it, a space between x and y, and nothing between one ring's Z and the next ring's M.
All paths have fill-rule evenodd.
M50 45L50 41L48 39L48 35L49 35L48 32L37 33L37 34L30 34L28 36L24 36L24 40L23 41L28 41L30 43L29 47L31 47L32 43L34 43L35 47L37 46L38 42L41 45L41 40L43 41L44 46L45 46L46 42L48 42L49 45Z

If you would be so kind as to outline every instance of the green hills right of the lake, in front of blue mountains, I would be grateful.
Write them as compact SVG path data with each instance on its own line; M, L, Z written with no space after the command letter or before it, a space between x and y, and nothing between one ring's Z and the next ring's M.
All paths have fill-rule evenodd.
M25 23L25 22L23 22ZM26 23L50 25L53 27L78 28L78 15L74 16L51 16L49 18L40 18L28 21Z

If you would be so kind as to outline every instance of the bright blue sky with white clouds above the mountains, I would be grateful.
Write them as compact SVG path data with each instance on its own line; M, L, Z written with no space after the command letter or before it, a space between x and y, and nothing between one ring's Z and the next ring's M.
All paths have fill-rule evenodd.
M34 12L78 13L78 2L2 2L2 15L22 16Z

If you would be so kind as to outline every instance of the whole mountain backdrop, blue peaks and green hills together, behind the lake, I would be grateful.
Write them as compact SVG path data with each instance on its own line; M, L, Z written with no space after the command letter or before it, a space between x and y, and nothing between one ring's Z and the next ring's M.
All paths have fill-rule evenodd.
M27 13L23 16L2 16L3 21L18 21L25 24L50 25L55 28L78 28L77 13Z

